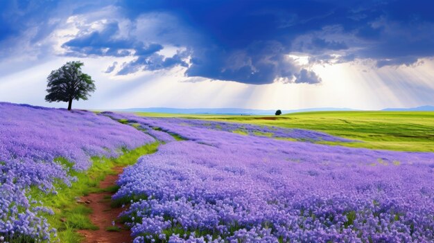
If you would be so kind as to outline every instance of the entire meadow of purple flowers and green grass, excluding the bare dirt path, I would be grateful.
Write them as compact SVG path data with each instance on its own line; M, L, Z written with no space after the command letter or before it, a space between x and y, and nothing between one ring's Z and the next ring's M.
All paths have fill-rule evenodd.
M140 115L0 103L0 242L84 241L116 166L134 243L434 240L430 113Z

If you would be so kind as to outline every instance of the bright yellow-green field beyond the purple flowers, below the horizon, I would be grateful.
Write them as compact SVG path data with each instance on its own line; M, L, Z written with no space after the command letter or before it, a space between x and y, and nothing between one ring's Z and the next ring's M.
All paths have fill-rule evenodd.
M282 116L138 114L312 129L357 141L327 143L330 145L434 152L434 112L429 111L319 111Z

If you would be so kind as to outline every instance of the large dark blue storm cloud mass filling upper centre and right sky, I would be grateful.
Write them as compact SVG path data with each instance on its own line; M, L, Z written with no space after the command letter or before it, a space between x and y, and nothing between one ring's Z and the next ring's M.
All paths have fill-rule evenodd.
M302 51L327 62L338 51L338 62L372 59L378 67L434 55L434 1L126 1L121 6L130 16L171 12L207 37L190 46L189 76L317 83L318 75L286 62L285 55ZM326 38L329 26L339 30ZM310 38L295 43L304 35Z

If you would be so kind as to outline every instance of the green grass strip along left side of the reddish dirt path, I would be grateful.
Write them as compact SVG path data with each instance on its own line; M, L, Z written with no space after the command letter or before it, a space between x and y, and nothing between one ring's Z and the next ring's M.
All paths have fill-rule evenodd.
M78 230L96 230L97 227L89 219L92 210L83 204L78 204L77 199L92 192L116 192L118 189L116 186L101 189L98 187L99 182L103 181L108 174L114 174L115 172L112 170L114 167L132 165L136 163L139 156L157 151L158 145L159 143L152 143L138 147L135 150L124 150L123 154L116 159L94 157L89 170L71 172L71 175L78 179L71 187L58 183L56 185L57 195L46 195L37 188L31 188L29 195L37 201L42 201L44 206L51 208L55 212L54 215L44 215L44 217L46 217L51 227L57 228L60 242L80 242L83 239L77 233ZM58 162L67 167L71 166L71 163L64 159L58 159Z

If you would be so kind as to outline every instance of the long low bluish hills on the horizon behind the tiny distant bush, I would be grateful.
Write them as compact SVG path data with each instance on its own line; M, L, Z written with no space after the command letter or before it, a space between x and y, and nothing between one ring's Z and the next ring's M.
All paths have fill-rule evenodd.
M130 112L152 112L166 114L221 114L221 115L274 115L275 109L241 109L241 108L197 108L197 109L177 109L166 107L151 107L151 108L131 108L120 109L119 111ZM349 108L311 108L311 109L292 109L282 110L283 114L306 111L355 111Z

